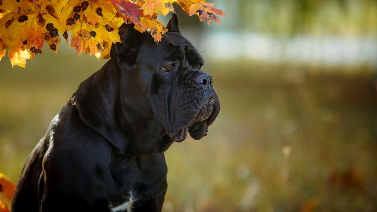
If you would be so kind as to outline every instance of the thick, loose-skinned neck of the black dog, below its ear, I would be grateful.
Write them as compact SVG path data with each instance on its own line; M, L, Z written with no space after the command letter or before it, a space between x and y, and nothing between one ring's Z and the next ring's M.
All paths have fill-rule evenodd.
M71 103L78 109L80 118L121 154L162 153L167 149L166 143L170 142L164 136L166 130L153 114L137 112L127 103L132 91L122 88L122 71L127 70L122 70L116 61L110 59L80 84Z

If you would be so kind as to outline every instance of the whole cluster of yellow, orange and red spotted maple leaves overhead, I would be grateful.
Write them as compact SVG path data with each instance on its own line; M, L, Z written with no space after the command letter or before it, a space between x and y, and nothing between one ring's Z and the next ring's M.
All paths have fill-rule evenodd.
M25 67L26 60L42 54L45 42L57 53L59 33L68 44L69 32L77 54L109 59L112 43L121 42L118 28L124 22L150 32L158 43L167 29L157 18L175 12L174 3L208 25L225 16L205 0L0 0L0 60L8 50L12 66Z

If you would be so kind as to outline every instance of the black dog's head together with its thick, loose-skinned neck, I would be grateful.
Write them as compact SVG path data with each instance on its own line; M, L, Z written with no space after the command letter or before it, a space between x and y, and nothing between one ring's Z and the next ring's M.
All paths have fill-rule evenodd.
M113 74L110 76L109 73L103 73L102 76L94 77L110 78L110 81L113 80L116 84L112 86L107 80L100 86L107 89L110 94L97 98L97 101L102 101L105 106L96 107L103 107L105 112L100 112L100 115L107 117L101 118L94 113L85 115L83 109L80 109L83 105L78 105L80 116L84 117L84 120L93 119L93 116L98 117L94 118L96 130L107 134L105 137L109 140L129 138L130 134L136 137L138 131L146 140L150 135L160 137L158 140L181 142L188 133L198 140L207 135L208 126L219 114L220 102L213 87L212 77L201 71L203 58L181 35L175 14L170 19L167 29L169 32L164 34L161 42L156 45L149 32L138 32L133 24L123 25L119 32L122 43L113 44L110 52L114 65L109 65L109 68L105 65L103 68L107 69L104 72ZM116 71L112 71L113 69ZM95 92L97 93L103 91ZM83 98L86 97L78 95L80 88L76 93L77 103L83 104ZM89 103L86 107L90 107ZM112 120L114 118L116 120ZM101 122L101 119L105 126L97 123ZM89 125L93 127L92 123ZM110 131L121 132L108 135ZM122 144L116 144L120 149L133 146L119 145ZM153 148L161 149L161 145L164 144L139 143L137 147L132 148L143 152L140 145L153 152Z

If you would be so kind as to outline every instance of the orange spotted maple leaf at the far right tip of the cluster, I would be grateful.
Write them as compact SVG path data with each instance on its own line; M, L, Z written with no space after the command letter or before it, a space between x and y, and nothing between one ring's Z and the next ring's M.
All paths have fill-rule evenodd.
M191 16L194 14L199 16L199 20L201 22L205 21L208 25L210 25L210 19L212 19L215 23L220 22L220 18L217 15L226 16L221 9L215 8L215 4L210 3L191 5L189 15Z

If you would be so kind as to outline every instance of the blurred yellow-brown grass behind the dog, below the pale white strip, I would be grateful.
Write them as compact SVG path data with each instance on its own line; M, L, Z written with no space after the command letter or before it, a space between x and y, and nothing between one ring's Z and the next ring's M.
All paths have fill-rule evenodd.
M106 62L74 51L46 51L27 69L0 62L0 171L14 182L60 107ZM222 109L207 137L166 152L164 211L377 210L371 68L239 60L204 70Z

